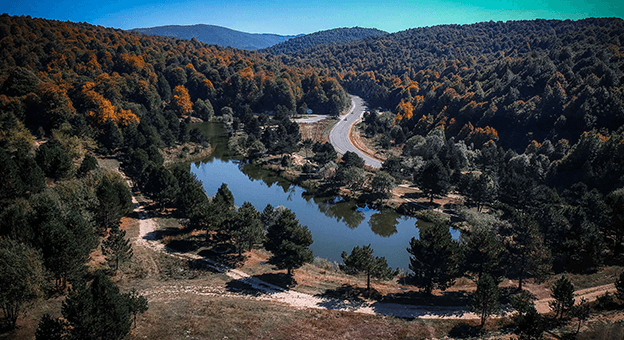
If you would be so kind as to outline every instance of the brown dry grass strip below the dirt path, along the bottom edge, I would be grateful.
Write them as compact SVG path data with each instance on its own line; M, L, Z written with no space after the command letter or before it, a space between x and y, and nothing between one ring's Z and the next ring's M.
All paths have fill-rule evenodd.
M182 293L150 302L130 339L425 339L458 324Z

